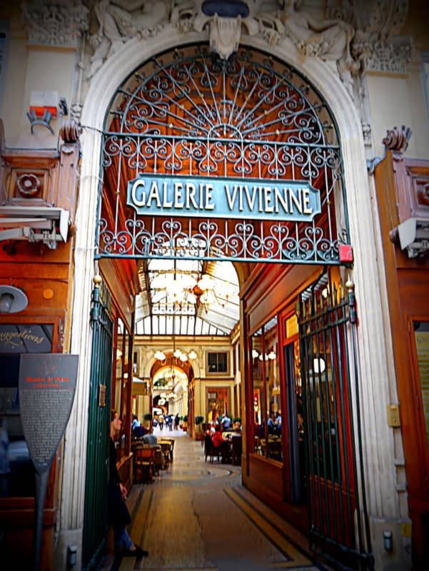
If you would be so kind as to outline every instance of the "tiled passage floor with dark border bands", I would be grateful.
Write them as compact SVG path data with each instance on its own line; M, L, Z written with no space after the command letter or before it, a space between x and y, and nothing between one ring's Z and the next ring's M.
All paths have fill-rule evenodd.
M130 497L131 537L149 557L126 557L120 571L317 569L305 538L241 485L241 468L206 463L181 431L163 435L176 439L173 463Z

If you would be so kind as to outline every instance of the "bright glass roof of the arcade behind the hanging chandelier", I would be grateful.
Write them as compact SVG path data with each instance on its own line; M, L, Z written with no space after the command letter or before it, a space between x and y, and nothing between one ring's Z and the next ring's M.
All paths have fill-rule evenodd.
M238 276L231 262L142 261L137 335L229 335L239 320Z

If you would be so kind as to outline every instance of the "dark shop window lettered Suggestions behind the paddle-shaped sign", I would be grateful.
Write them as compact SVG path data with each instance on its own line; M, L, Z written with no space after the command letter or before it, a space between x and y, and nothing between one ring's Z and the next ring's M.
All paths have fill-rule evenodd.
M19 362L22 353L51 353L53 329L0 324L0 497L34 496L34 468L19 415Z

